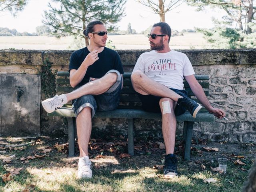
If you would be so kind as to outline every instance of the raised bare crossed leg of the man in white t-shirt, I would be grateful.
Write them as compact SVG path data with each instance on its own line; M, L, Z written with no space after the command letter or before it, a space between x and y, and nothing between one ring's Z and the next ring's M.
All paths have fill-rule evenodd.
M132 85L134 90L142 95L154 95L160 97L171 98L174 101L178 101L179 98L183 98L179 94L170 90L168 87L148 78L141 71L135 71L131 76Z

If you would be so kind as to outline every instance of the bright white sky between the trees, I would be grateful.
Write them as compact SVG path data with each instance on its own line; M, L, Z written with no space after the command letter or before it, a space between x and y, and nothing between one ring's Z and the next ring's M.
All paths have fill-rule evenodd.
M13 17L10 12L0 12L0 27L15 28L18 32L36 32L36 27L43 25L44 10L49 9L49 2L51 1L28 0L27 6L22 12L18 12L16 17ZM154 14L149 8L135 0L127 0L125 13L126 16L117 23L119 30L127 30L130 22L132 29L135 29L136 32L141 32L152 24L160 22L157 14ZM194 29L195 27L212 28L214 26L212 17L220 19L223 15L223 11L212 11L210 8L207 12L197 12L196 7L183 3L166 13L165 18L173 30L181 31L182 29Z

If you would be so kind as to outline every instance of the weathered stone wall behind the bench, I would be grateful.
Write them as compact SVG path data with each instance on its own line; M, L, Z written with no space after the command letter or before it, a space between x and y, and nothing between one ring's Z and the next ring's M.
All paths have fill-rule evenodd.
M118 50L125 72L131 72L136 60L147 50ZM195 123L194 136L230 142L256 141L256 50L180 50L187 54L196 74L210 76L213 106L226 112L226 120ZM72 51L0 50L0 73L40 74L46 58L53 70L68 70ZM44 94L42 94L44 99ZM49 123L51 122L51 123ZM41 108L41 133L66 132L63 118L51 118ZM93 120L93 128L126 134L127 120ZM181 131L182 122L178 123ZM161 135L161 122L135 121L136 134ZM97 134L94 132L93 134Z

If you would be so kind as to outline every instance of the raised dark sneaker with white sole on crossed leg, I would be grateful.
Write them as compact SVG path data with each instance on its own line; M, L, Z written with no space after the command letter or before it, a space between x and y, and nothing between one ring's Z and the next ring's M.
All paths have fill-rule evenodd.
M199 103L195 102L189 97L179 98L177 104L184 106L194 118L196 118L196 114L202 108Z

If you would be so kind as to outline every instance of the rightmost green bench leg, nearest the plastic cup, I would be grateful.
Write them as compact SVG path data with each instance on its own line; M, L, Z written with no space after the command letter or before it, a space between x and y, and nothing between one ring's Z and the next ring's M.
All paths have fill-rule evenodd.
M194 122L184 121L183 129L183 146L184 148L184 160L190 160L190 148L192 142L192 130Z

